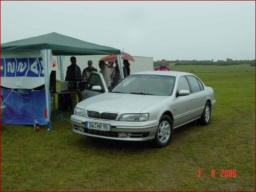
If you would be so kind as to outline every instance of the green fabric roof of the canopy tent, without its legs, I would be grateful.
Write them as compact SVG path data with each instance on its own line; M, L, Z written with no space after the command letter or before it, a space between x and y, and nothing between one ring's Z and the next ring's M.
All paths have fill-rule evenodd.
M44 49L52 50L53 55L120 54L120 50L118 49L89 43L55 32L1 44L1 53L37 51Z

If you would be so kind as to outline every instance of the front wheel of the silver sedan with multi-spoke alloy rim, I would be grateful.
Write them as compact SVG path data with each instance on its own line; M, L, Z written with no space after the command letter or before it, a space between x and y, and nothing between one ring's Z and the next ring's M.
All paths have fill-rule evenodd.
M153 142L157 148L166 147L169 145L173 135L173 123L168 115L163 115L160 118L159 125L156 131Z

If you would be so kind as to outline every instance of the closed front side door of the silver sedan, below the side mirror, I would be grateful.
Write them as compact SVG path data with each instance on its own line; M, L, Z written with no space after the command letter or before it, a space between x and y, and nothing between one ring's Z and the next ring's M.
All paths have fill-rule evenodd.
M174 93L180 90L188 90L191 92L188 79L185 76L181 76L178 79L178 85ZM176 96L174 101L176 103L176 116L174 117L174 127L180 126L193 119L194 107L191 94L184 96Z

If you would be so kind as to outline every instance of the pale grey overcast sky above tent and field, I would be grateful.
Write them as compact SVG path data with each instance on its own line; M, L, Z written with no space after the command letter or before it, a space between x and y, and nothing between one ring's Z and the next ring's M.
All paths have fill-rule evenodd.
M255 1L1 1L1 43L57 32L154 61L255 59Z

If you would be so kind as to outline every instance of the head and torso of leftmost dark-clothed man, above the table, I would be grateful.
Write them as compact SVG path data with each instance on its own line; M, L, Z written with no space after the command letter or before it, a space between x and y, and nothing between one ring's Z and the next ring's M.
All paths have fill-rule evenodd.
M70 58L71 65L67 67L66 81L77 81L79 78L82 78L81 69L76 65L76 57L72 56Z

